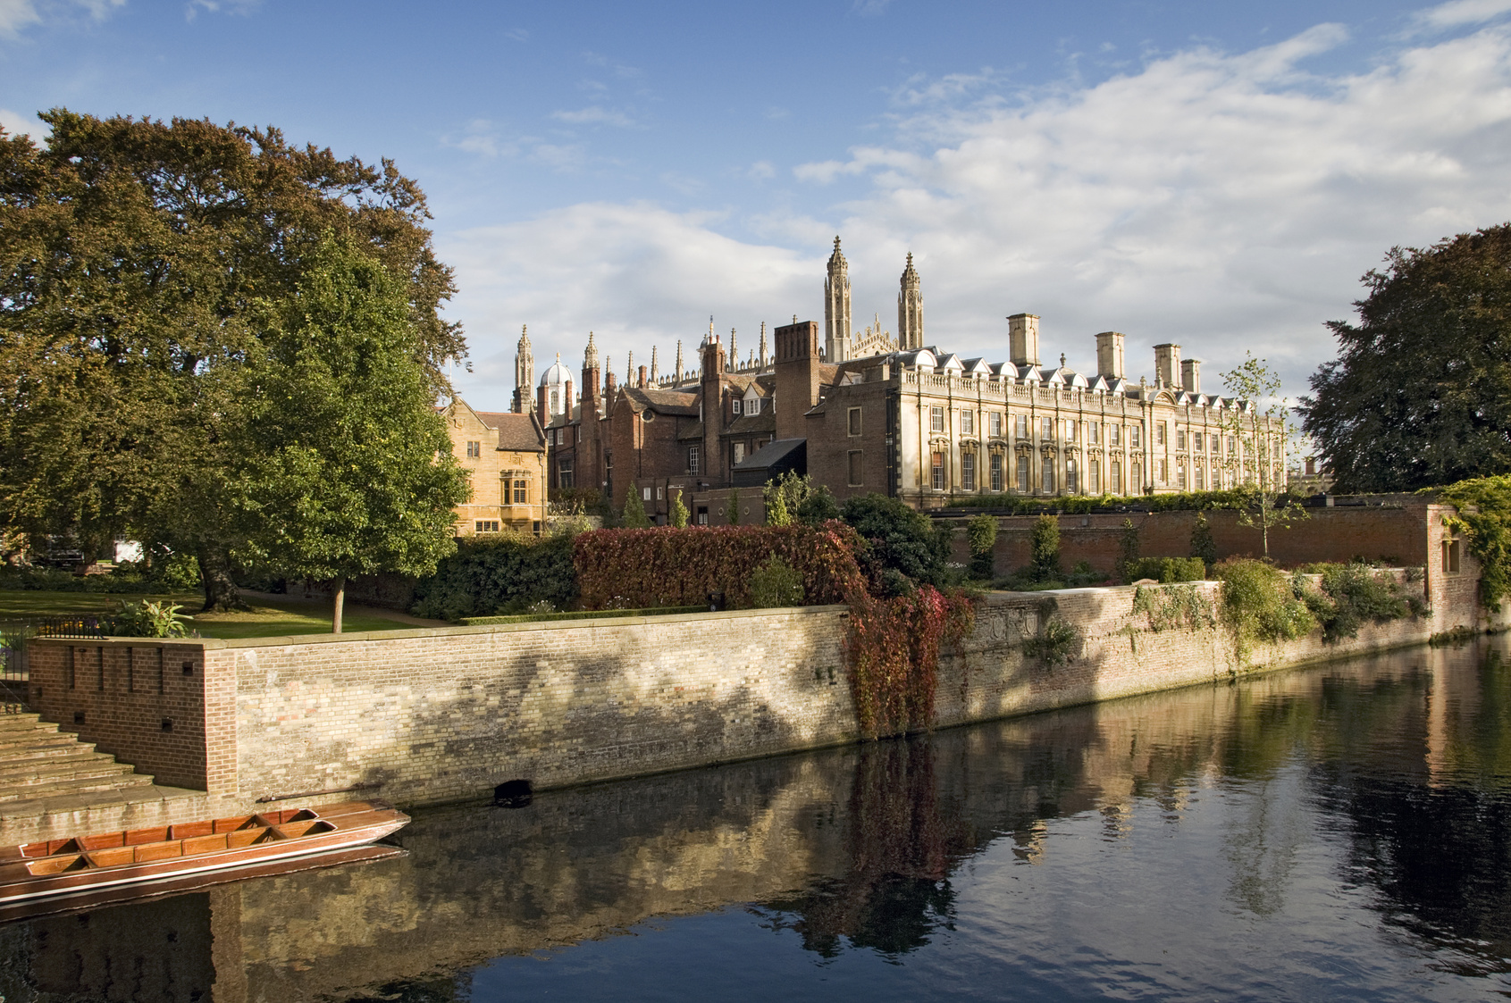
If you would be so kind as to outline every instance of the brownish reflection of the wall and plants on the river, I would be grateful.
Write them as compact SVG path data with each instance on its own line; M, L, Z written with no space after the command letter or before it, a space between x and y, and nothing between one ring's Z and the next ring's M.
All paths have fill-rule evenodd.
M0 997L465 998L490 959L731 903L820 956L899 958L956 921L988 846L1034 864L1056 820L1120 841L1135 808L1180 828L1212 785L1245 792L1213 850L1231 909L1284 908L1321 817L1346 847L1333 879L1372 890L1383 923L1448 968L1505 971L1508 665L1496 639L422 811L403 858L0 927Z

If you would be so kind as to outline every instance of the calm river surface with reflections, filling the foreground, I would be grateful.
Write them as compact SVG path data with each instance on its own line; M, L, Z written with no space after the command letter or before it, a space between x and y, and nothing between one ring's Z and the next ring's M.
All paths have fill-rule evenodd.
M0 997L1511 995L1506 639L416 813L0 927Z

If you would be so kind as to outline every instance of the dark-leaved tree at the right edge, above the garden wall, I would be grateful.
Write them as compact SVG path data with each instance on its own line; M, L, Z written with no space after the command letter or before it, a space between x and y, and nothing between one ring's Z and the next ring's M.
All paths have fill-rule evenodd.
M1312 376L1306 432L1343 491L1511 471L1511 224L1393 248Z

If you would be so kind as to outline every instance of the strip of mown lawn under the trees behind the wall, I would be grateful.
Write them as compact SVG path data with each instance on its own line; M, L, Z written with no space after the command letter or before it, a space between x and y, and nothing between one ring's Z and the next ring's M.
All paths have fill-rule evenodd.
M112 613L121 600L178 603L184 612L199 609L204 597L198 592L174 592L171 595L106 595L100 592L23 592L0 591L0 619L33 619L41 616L100 615ZM283 637L289 634L331 633L331 609L311 603L278 603L260 600L249 613L201 613L187 621L189 630L198 630L201 637ZM341 630L411 630L411 624L351 613L343 618Z

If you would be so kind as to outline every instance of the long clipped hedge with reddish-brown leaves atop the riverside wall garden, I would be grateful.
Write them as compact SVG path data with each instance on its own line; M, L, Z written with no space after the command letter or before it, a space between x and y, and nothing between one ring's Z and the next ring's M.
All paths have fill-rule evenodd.
M573 542L583 609L697 606L724 592L730 609L751 604L751 572L772 554L802 576L804 603L846 603L866 580L855 530L839 521L807 526L600 529Z

